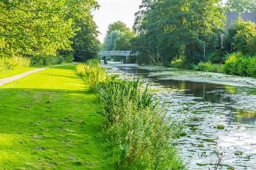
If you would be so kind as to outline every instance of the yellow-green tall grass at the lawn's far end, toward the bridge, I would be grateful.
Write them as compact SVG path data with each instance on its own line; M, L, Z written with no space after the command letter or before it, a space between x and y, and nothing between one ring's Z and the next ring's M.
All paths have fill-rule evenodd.
M94 60L79 63L76 66L76 74L82 76L93 91L99 90L107 81L104 69Z

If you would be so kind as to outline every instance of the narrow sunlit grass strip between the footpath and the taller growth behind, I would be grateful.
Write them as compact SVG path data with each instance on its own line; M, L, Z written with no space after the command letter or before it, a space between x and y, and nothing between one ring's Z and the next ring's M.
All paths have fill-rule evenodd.
M63 64L68 64L68 63L61 63L59 65L63 65ZM47 65L47 66L57 66L57 65ZM34 70L34 69L38 69L38 68L42 68L42 67L47 67L47 66L26 67L26 68L21 68L21 69L10 70L7 72L0 72L0 79L18 75L18 74L22 74L26 71L30 71L30 70Z

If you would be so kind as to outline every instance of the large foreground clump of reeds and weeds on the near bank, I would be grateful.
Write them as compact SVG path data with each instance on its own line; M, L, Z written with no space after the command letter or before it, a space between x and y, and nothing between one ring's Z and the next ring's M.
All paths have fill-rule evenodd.
M158 101L139 80L109 82L101 88L106 164L119 169L185 169L172 146L183 125L158 109Z

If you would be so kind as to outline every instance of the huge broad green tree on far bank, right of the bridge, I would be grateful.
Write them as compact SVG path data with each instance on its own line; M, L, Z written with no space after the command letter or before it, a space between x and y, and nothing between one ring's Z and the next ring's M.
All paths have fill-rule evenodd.
M143 48L136 47L139 41L133 41L133 46L145 55L150 52L155 62L170 62L184 53L189 62L198 63L205 59L204 49L207 54L220 46L218 34L224 19L220 1L147 0L140 8L133 28L142 37ZM170 52L174 54L168 56Z

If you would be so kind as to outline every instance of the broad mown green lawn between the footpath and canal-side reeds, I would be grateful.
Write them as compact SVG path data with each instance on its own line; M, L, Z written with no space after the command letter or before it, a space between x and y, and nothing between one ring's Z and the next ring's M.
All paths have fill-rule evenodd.
M99 168L103 120L74 69L53 67L0 87L1 168Z

